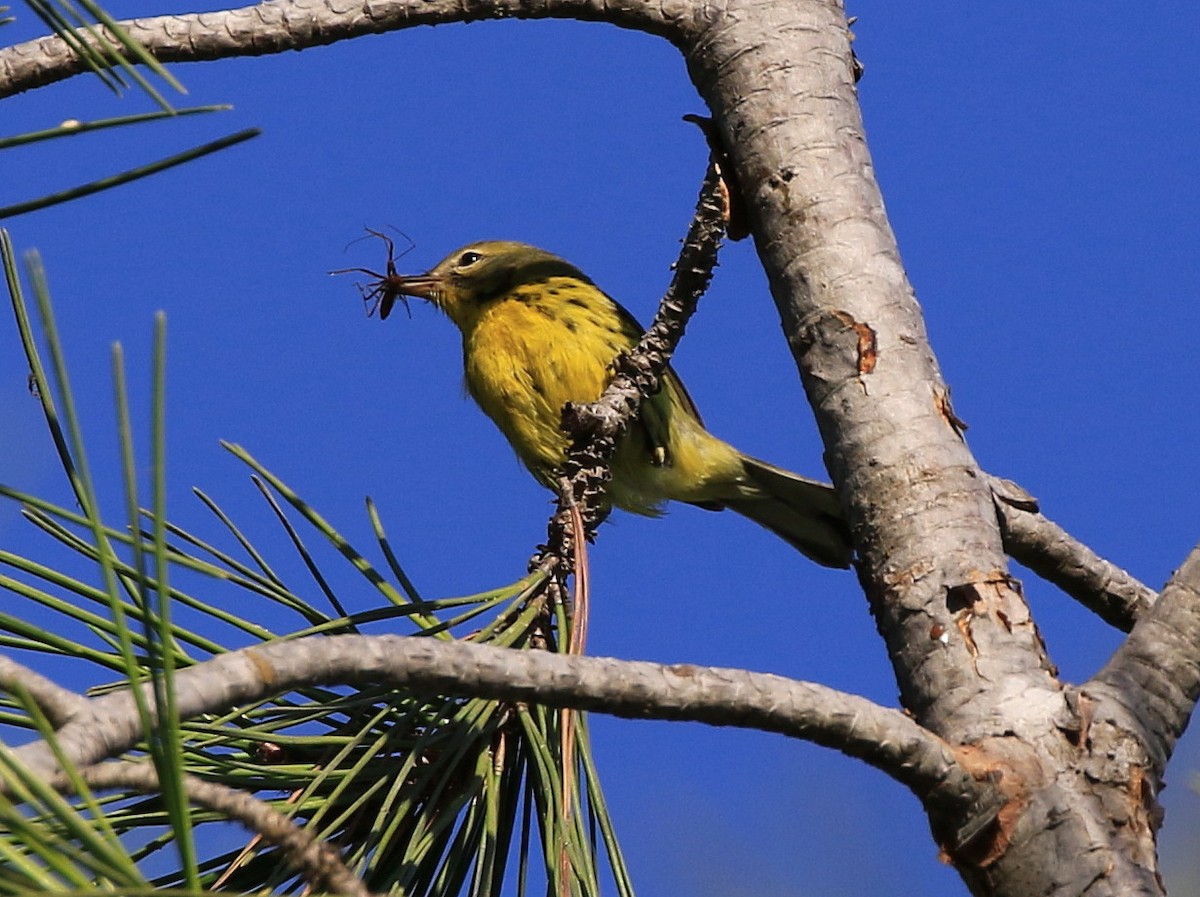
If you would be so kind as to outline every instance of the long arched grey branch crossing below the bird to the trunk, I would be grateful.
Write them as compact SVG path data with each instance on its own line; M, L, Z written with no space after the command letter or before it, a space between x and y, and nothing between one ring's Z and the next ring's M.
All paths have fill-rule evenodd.
M180 670L175 684L181 720L302 687L370 684L775 732L859 758L943 812L978 807L988 791L948 745L898 710L821 685L738 669L400 636L331 636L224 654ZM56 736L59 748L79 766L115 757L142 739L128 691L92 698L89 711ZM24 745L16 754L42 775L59 771L42 742Z

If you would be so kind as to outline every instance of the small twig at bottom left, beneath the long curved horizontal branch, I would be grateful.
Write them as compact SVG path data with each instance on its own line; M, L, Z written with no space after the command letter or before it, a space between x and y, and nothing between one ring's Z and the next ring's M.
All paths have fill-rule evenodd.
M157 794L158 773L149 763L103 763L80 770L84 782L94 790L136 790ZM71 790L66 776L54 779L59 791ZM184 791L188 799L209 809L236 819L264 841L283 851L288 863L318 891L370 897L371 891L342 862L337 850L314 838L286 815L245 791L196 776L184 776Z

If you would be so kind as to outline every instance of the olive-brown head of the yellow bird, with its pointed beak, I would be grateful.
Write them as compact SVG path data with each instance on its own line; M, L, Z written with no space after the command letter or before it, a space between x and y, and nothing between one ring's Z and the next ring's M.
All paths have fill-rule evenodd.
M551 277L575 277L592 283L571 263L511 240L484 240L455 249L424 275L389 278L392 293L436 305L460 330L468 330L480 311L517 287Z

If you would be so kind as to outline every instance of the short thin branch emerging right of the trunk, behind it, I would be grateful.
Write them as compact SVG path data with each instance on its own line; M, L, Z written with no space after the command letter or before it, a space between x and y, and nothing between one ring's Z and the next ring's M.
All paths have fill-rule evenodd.
M1054 520L1037 499L1000 477L988 477L1000 517L1004 550L1039 577L1057 585L1102 620L1129 632L1158 598L1148 585L1104 560Z

